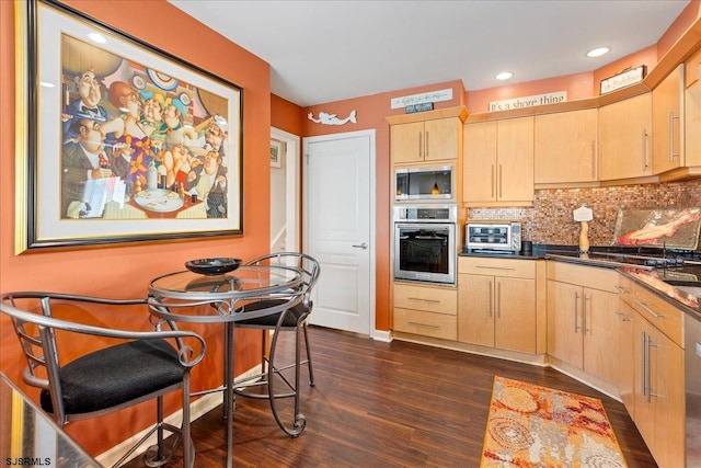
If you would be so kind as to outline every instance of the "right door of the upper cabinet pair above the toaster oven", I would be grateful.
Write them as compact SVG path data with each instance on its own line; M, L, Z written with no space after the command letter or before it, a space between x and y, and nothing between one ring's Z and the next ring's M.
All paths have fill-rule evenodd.
M496 144L496 198L533 199L533 117L499 121Z

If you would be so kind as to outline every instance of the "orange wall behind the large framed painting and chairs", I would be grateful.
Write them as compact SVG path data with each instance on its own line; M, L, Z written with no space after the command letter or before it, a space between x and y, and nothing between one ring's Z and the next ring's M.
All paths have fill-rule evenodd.
M23 123L14 122L14 23L15 2L0 1L0 290L58 290L115 298L145 297L151 278L183 269L186 260L204 256L239 256L244 260L269 249L269 164L267 148L271 127L269 67L219 34L172 7L154 1L78 1L66 4L108 23L183 60L209 70L243 88L243 227L244 236L189 241L107 246L94 249L30 251L14 255L14 138ZM186 31L186 33L184 33ZM207 362L193 372L194 389L220 383L220 330L208 334ZM19 344L9 321L0 321L0 369L21 381ZM237 372L257 362L260 335L237 334ZM38 392L27 389L32 398ZM148 403L147 403L148 404ZM170 411L177 406L171 401ZM153 421L154 412L123 411L105 416L95 431L94 422L71 423L67 430L91 454L97 455ZM110 427L103 431L103 429Z

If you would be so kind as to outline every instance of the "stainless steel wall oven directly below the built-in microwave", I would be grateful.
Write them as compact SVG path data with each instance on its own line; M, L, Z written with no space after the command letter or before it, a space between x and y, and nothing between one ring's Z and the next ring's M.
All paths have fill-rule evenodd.
M394 206L394 279L456 283L457 205Z

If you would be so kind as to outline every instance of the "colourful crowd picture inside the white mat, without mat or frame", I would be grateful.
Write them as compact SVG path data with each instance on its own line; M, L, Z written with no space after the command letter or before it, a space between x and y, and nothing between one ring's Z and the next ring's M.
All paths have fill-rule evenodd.
M229 216L227 99L67 35L61 53L61 219Z

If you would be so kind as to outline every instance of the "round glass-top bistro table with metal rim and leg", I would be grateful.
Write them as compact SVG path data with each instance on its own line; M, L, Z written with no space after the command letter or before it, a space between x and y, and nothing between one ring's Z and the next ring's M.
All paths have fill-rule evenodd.
M223 391L223 415L227 420L227 467L233 464L234 404L234 326L239 320L272 316L300 304L302 274L283 265L243 265L216 276L188 270L154 278L149 287L149 310L160 320L189 323L223 323L223 385L193 392L193 396ZM267 308L246 305L256 300L278 299Z

